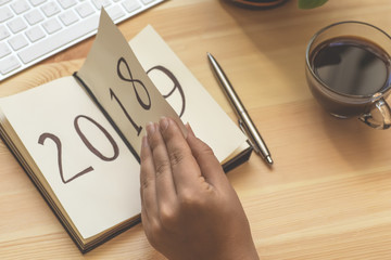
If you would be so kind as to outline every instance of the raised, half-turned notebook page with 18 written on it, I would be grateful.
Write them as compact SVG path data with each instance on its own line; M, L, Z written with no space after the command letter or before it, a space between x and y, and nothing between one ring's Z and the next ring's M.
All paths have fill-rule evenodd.
M146 125L162 116L186 128L148 77L119 29L102 9L97 38L76 76L112 120L130 150L140 155Z

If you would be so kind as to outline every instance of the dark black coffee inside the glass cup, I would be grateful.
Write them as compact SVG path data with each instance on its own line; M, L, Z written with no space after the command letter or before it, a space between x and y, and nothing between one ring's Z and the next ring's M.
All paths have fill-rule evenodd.
M388 86L390 57L379 46L357 37L332 38L312 53L314 73L336 92L373 95Z

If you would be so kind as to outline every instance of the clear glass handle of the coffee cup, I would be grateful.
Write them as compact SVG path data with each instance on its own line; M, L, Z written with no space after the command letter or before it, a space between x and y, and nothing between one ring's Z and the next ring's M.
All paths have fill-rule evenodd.
M383 99L380 99L360 119L375 129L388 129L391 127L391 108Z

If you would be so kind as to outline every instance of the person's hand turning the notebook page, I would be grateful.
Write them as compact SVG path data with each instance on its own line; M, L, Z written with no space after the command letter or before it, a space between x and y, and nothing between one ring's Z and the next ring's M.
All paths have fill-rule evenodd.
M162 118L141 147L141 219L151 245L172 260L258 259L239 198L212 150Z

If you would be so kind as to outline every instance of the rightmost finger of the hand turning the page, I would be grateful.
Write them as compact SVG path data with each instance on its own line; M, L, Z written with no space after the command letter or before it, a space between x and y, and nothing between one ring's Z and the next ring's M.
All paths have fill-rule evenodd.
M222 165L217 160L212 148L200 139L195 138L190 125L187 125L186 127L188 129L187 143L201 169L202 176L214 186L222 184L222 181L227 181Z

